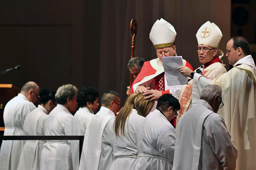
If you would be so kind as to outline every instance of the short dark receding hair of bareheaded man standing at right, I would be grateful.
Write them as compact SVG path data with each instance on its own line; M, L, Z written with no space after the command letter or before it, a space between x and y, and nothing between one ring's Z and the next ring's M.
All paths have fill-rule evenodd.
M242 49L245 55L251 53L251 48L248 40L242 36L233 36L229 40L233 39L233 48L236 50L238 47Z

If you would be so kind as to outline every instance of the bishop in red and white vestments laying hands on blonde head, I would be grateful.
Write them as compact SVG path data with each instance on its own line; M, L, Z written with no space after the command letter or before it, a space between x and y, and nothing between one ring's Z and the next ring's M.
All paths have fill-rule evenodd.
M150 100L158 98L166 93L170 93L165 84L165 73L162 57L177 56L176 46L174 45L176 31L174 27L164 19L157 20L151 28L149 38L156 48L156 59L146 61L132 84L133 92L146 93ZM189 62L183 59L183 65L193 70Z

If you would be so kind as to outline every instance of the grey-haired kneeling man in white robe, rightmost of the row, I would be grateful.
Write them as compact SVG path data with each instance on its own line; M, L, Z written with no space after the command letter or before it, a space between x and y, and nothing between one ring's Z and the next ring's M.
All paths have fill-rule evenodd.
M205 86L198 104L181 116L173 170L235 170L237 149L223 118L217 114L223 106L221 93L218 85Z

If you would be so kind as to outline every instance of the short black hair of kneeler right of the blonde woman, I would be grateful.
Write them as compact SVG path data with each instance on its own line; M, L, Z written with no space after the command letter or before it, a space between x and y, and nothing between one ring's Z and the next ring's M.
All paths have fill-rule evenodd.
M171 106L175 110L181 109L179 101L171 94L164 94L161 97L159 97L157 102L157 109L160 109L161 111L165 112Z

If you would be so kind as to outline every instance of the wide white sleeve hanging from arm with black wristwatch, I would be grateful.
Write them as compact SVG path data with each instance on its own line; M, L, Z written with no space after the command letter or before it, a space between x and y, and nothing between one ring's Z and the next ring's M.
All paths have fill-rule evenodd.
M200 99L200 93L205 85L210 84L212 80L203 77L202 75L195 73L193 77L193 85L192 85L192 104L191 107L194 107L198 104Z

